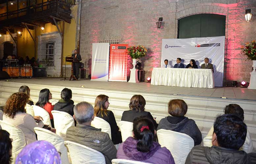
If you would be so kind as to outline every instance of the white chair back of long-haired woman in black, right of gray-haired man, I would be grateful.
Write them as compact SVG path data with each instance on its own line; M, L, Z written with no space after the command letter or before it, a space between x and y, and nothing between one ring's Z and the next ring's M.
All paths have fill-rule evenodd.
M100 117L94 117L91 125L95 128L101 129L101 132L108 133L110 139L112 139L111 138L111 128L107 121L105 121L104 119L102 119Z

